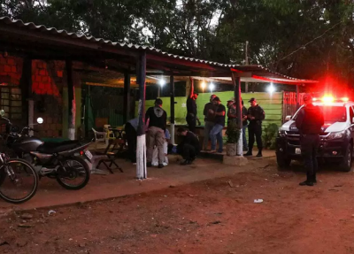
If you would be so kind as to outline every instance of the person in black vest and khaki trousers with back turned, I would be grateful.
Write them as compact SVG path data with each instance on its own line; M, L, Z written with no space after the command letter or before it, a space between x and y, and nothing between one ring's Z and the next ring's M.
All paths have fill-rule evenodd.
M145 114L145 122L149 119L148 148L146 152L147 166L151 166L154 146L158 147L158 168L164 167L165 128L167 113L162 109L162 100L156 99L155 106L150 107Z

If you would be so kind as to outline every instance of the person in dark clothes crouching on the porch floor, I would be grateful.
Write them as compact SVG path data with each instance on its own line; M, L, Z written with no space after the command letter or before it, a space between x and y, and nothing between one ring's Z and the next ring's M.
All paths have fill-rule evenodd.
M199 140L194 133L183 127L178 128L177 134L183 136L183 141L177 146L177 152L184 159L181 165L191 165L200 151Z

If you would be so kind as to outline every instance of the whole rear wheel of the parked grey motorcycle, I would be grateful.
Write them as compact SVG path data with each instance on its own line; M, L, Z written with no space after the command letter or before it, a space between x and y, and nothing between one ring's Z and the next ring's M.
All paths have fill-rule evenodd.
M58 169L57 181L65 189L82 189L89 182L89 165L79 157L65 158Z

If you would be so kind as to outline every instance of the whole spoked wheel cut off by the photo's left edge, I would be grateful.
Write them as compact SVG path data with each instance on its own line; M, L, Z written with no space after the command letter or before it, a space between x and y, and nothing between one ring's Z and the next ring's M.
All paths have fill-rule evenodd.
M0 166L0 197L12 204L28 201L38 188L38 174L27 161L10 158Z

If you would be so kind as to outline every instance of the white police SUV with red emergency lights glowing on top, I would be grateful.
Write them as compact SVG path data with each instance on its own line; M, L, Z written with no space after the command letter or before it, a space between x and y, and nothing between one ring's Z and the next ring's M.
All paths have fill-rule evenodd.
M321 108L325 118L318 158L338 162L343 171L349 172L353 153L354 103L347 98L324 97L314 99L313 104ZM301 159L300 135L295 125L299 110L293 117L288 116L288 121L279 129L276 158L280 168L288 167L293 159Z

